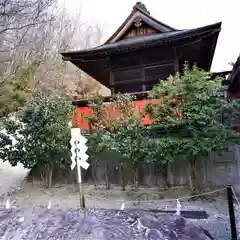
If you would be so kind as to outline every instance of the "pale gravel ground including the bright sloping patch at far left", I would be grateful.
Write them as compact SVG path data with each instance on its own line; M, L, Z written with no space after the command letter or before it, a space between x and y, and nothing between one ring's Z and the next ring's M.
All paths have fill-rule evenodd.
M62 185L47 190L41 188L38 183L25 183L21 189L27 172L28 170L25 170L20 165L13 168L8 163L0 161L0 207L4 208L6 201L9 199L11 206L17 209L35 209L36 207L47 209L49 202L51 202L53 210L62 209L68 211L69 208L78 208L78 188L73 185ZM138 198L131 191L123 193L116 189L108 191L105 189L95 190L93 186L85 186L84 190L87 208L120 209L121 204L124 202L126 209L176 209L176 201L167 201L165 199L149 200L159 198L155 190L148 192L147 201L136 201ZM166 195L165 197L175 198L181 196L180 193L176 193L177 191L174 190L173 192L175 196ZM191 219L189 221L196 226L207 229L215 239L227 240L231 238L228 206L225 198L181 201L181 205L182 210L205 210L209 215L207 219ZM240 209L238 210L237 206L235 206L235 209L236 217L240 222Z

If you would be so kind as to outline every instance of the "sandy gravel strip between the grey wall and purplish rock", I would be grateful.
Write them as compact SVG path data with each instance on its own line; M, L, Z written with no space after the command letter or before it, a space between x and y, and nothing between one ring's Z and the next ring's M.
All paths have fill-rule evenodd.
M93 186L85 186L85 201L87 208L120 209L124 202L125 209L176 209L176 201L148 200L133 201L131 192L122 193L117 190L95 190ZM151 195L151 194L150 194ZM223 195L224 196L224 195ZM227 201L223 196L204 200L180 200L181 210L204 210L209 215L207 219L190 219L191 223L208 230L217 240L229 240L230 224L228 218ZM167 197L169 198L169 197ZM73 185L63 185L52 189L41 188L37 184L26 183L23 189L11 196L2 197L0 206L4 208L9 199L12 207L17 209L47 209L49 202L51 209L68 211L69 208L78 208L79 197L77 188ZM239 211L238 211L239 212ZM237 214L240 217L240 214ZM240 218L239 218L240 219ZM121 238L120 238L121 239Z

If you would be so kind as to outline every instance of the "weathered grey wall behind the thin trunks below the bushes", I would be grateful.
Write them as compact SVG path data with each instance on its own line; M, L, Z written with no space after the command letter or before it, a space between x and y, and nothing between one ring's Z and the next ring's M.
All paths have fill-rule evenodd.
M101 153L96 156L90 155L90 168L82 171L85 183L106 185L106 174L110 187L111 184L121 186L121 171L117 167L118 154ZM106 172L107 166L107 172ZM223 188L231 184L240 194L240 146L231 146L228 152L223 154L211 154L206 159L197 162L198 187L203 192L209 189ZM64 170L64 177L60 175L60 181L68 183L76 182L76 173ZM125 184L131 186L133 182L133 171L131 167L124 169ZM179 158L173 163L165 166L153 164L140 164L139 184L149 187L175 187L189 186L188 162Z

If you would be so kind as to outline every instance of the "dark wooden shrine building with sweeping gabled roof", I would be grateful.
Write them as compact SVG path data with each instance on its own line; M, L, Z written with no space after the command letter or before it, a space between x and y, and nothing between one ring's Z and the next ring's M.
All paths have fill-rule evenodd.
M107 41L87 50L61 53L63 60L96 79L116 93L135 95L134 108L143 108L148 92L160 79L182 73L185 62L210 71L221 31L221 22L194 29L176 29L151 16L137 2L130 15ZM227 73L222 73L223 76ZM105 97L109 102L111 96ZM89 99L73 101L80 128L88 130L84 116L91 116ZM76 119L73 119L76 121ZM149 118L142 119L150 124Z

